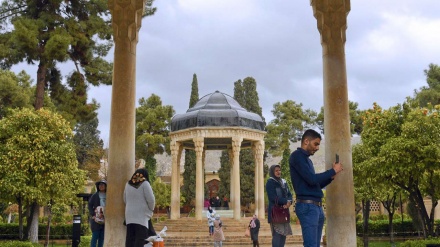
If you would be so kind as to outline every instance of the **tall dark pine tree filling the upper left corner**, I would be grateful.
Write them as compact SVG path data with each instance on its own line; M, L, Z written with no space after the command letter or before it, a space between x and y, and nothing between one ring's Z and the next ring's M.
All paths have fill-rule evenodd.
M38 64L36 109L59 62L72 61L88 83L111 84L112 64L103 59L113 45L110 20L105 0L4 0L0 64Z

